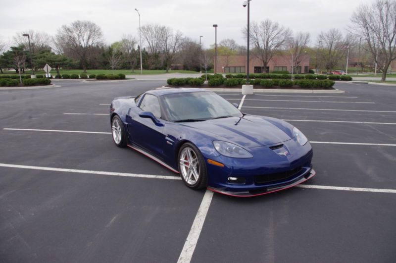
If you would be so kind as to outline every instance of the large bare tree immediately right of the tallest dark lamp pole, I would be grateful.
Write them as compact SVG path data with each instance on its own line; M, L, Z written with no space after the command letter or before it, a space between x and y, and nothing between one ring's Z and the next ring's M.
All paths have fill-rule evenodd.
M243 33L247 38L246 27L243 29ZM265 73L268 73L267 65L271 58L284 47L290 36L289 28L280 26L278 22L272 22L269 19L251 24L250 43L254 47L252 53L262 61Z

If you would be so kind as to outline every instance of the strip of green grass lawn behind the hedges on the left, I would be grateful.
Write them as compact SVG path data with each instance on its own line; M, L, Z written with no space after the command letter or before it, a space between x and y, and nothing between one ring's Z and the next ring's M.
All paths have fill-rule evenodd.
M25 71L24 75L30 74L31 71ZM82 69L61 69L60 70L60 74L82 74L83 70ZM115 69L115 70L111 70L111 69L88 69L87 70L87 74L125 74L125 75L140 75L140 70L136 69L135 72L132 72L130 69ZM189 71L189 70L169 70L169 73L197 73L199 74L199 72L196 71ZM15 71L4 71L4 75L14 75L16 74ZM42 74L44 75L45 72L44 71L35 71L35 74ZM51 74L54 76L56 75L56 71L55 70L51 70ZM166 74L166 70L143 70L143 74L144 75L156 75L156 74Z

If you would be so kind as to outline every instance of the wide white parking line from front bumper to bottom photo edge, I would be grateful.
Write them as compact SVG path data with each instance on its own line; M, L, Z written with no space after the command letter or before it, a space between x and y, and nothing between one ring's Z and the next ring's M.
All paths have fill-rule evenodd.
M180 253L178 263L189 263L193 257L195 247L197 246L198 238L202 230L203 223L212 202L213 192L206 190L202 202L199 206L197 215L195 216L193 225L191 226L189 235L184 243L182 252Z

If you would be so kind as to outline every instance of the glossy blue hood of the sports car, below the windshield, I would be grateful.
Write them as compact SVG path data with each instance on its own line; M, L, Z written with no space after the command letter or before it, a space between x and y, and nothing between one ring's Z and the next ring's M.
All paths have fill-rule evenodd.
M236 143L245 148L277 144L292 139L290 124L254 115L188 122L183 125L201 133L210 133L217 140Z

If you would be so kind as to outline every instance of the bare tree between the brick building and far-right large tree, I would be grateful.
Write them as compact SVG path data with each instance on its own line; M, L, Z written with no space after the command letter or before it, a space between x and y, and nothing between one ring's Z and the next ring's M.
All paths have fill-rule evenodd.
M321 59L324 60L326 70L330 72L345 57L350 41L343 37L341 31L332 28L327 32L321 32L319 40L322 43Z

